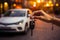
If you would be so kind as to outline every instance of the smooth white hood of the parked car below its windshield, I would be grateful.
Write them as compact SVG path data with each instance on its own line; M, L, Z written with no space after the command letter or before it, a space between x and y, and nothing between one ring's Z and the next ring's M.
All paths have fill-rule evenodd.
M0 23L16 23L25 19L25 17L2 17Z

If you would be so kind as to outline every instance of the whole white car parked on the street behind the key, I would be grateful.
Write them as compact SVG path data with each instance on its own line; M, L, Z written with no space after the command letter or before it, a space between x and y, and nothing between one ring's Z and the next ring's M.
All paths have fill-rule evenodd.
M27 32L30 24L29 9L11 9L0 18L0 32Z

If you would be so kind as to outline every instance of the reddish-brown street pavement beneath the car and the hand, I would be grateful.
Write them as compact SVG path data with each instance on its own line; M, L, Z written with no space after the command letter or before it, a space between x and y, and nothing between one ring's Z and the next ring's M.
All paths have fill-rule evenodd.
M52 30L53 26L53 30ZM36 20L33 36L29 31L27 34L13 33L0 34L0 40L60 40L60 27L52 23Z

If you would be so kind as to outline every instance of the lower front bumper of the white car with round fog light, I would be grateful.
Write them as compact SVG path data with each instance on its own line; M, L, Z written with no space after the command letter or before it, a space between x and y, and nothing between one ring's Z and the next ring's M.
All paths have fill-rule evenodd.
M24 28L21 26L15 26L15 27L0 27L0 32L23 32Z

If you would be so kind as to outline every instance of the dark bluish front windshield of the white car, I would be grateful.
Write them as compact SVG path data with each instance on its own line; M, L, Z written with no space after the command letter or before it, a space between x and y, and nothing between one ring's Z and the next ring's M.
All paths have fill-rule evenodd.
M25 11L21 11L21 10L7 11L4 14L4 17L24 17L24 16L25 16Z

